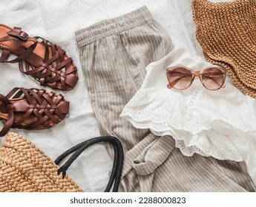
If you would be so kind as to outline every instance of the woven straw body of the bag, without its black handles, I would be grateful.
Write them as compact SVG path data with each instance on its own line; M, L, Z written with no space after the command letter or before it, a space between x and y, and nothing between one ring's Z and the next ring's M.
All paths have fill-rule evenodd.
M9 132L0 149L0 191L82 191L67 174L62 179L58 169L33 143Z

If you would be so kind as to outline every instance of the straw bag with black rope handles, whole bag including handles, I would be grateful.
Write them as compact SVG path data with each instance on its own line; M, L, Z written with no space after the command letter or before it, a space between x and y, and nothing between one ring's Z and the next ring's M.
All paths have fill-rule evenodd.
M9 132L0 148L0 191L81 192L82 189L66 174L68 167L89 146L108 142L114 146L114 164L105 191L118 191L122 173L123 150L117 138L92 138L73 146L55 162L29 140ZM61 167L59 163L72 154Z

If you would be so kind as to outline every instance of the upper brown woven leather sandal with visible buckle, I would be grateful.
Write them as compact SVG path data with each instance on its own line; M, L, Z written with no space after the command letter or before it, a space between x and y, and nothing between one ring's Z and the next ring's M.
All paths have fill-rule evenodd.
M19 63L19 70L42 86L70 90L78 81L77 69L65 50L41 37L29 37L22 28L0 24L0 62ZM17 57L8 60L10 54Z

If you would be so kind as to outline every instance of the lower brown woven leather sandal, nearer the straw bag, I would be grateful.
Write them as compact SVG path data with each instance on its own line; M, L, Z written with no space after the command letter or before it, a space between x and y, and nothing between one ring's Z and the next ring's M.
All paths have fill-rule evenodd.
M14 88L8 95L0 95L0 119L4 127L0 137L10 128L48 129L65 118L69 101L44 89Z

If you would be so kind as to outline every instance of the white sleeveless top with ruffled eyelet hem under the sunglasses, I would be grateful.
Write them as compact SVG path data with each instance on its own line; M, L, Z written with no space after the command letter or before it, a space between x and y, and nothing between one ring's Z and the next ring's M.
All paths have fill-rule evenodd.
M142 87L120 115L136 128L155 135L171 135L183 155L198 153L219 160L245 161L256 183L256 100L243 94L229 75L226 86L205 89L199 79L185 90L168 89L166 68L186 66L201 70L211 66L176 47L160 61L146 67Z

